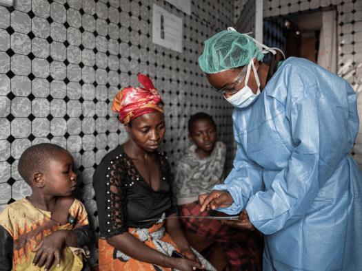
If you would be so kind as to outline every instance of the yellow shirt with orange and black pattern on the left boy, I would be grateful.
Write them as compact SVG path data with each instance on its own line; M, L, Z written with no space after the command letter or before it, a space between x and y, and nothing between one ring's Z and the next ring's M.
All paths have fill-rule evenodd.
M9 204L0 214L0 271L44 270L32 265L34 248L42 239L57 230L74 230L78 237L78 246L90 241L91 232L86 208L74 199L69 208L68 224L60 225L51 219L52 213L35 208L24 197ZM79 271L83 268L83 256L74 254L77 248L66 247L63 250L65 261L57 268L54 262L49 271Z

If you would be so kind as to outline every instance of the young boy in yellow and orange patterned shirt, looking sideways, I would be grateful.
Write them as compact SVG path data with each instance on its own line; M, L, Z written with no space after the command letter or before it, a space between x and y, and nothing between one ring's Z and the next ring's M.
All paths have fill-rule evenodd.
M18 170L32 195L0 214L0 270L85 270L81 252L88 252L80 247L91 232L86 208L72 197L72 155L54 144L34 145L21 155Z

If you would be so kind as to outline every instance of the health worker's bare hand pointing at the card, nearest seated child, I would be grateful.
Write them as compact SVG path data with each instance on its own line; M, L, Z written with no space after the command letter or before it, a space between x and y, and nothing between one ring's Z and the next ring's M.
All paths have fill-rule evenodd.
M212 190L210 194L199 195L199 202L201 204L200 211L215 210L216 208L226 208L231 206L234 202L232 196L228 191Z

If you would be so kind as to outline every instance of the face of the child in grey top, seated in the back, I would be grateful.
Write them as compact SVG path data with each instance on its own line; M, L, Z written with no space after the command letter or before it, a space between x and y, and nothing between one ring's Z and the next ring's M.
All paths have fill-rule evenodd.
M217 129L211 120L201 118L192 125L192 134L189 138L199 149L210 152L215 147L217 140Z

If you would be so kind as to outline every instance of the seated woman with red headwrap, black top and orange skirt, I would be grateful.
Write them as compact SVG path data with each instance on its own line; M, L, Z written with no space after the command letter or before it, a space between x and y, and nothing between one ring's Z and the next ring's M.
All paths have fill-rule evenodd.
M163 102L150 78L139 74L139 82L144 88L122 89L112 105L130 139L105 155L93 176L99 270L214 270L190 248L178 219L141 222L176 217L177 202L167 157L157 151L165 134ZM185 259L171 257L174 250Z

